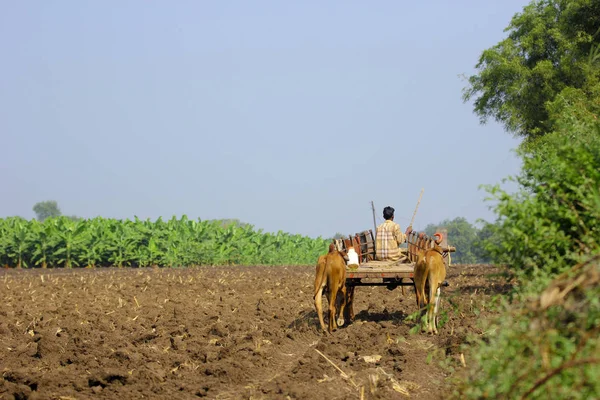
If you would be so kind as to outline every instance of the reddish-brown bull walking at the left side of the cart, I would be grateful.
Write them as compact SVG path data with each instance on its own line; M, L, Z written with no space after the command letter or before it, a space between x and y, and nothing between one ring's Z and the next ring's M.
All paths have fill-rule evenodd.
M323 321L323 306L322 297L323 289L326 289L327 301L329 302L329 329L325 327ZM341 292L341 307L339 310L339 319L336 322L336 298L338 292ZM346 262L344 256L340 253L335 245L329 245L329 253L320 256L317 261L316 276L315 276L315 291L314 291L315 308L319 315L321 328L329 333L335 331L338 325L344 325L344 307L346 306Z

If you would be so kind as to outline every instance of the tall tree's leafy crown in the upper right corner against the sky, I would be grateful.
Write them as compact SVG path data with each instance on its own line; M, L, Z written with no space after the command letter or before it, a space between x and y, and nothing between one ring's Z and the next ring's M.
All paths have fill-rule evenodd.
M526 142L573 113L600 110L600 2L536 0L516 14L508 37L485 50L465 101Z

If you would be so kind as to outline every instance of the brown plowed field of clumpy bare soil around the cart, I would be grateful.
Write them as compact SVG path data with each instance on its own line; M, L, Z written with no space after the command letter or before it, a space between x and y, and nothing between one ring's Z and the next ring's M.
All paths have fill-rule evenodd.
M460 368L498 272L450 267L428 336L409 332L413 289L385 287L357 288L356 320L324 335L314 267L2 270L0 396L442 399L440 362Z

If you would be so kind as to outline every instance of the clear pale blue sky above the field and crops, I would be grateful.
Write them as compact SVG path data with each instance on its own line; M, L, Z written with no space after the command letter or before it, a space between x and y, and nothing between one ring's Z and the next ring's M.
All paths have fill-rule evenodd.
M460 74L524 0L5 1L0 217L238 218L331 236L493 219L518 141Z

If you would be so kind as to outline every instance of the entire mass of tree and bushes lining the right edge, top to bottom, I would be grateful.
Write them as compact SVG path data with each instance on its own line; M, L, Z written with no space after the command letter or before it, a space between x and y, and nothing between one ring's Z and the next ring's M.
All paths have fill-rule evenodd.
M508 30L465 97L526 139L519 190L486 187L497 219L480 234L518 285L465 349L455 397L598 398L600 2L535 1Z

